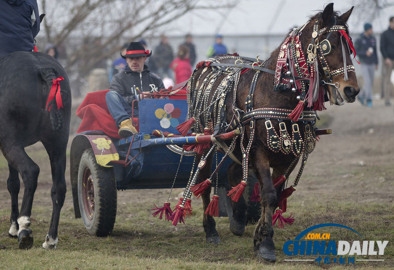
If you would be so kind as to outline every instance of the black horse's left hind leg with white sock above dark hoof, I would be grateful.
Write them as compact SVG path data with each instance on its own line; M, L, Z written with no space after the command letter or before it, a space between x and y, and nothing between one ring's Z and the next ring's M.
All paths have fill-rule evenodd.
M16 143L6 145L17 145ZM3 148L3 154L11 167L22 176L25 191L22 199L21 211L17 219L19 225L19 248L28 249L33 246L33 233L30 229L30 216L32 214L34 192L37 188L37 179L40 168L28 156L23 147Z

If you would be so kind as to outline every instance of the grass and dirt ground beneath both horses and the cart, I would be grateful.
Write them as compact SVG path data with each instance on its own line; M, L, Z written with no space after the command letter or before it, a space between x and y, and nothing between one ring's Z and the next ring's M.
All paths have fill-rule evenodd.
M214 246L205 243L200 199L193 198L194 216L186 220L186 226L181 224L174 227L152 217L151 208L153 204L162 204L166 200L166 189L119 191L113 233L105 238L90 236L82 220L74 218L68 170L58 248L54 251L42 249L41 244L51 219L51 179L45 150L40 144L36 144L28 149L29 155L41 168L32 211L34 245L30 250L19 250L17 240L8 237L8 169L6 161L3 157L0 158L0 268L394 269L394 120L382 118L380 122L376 122L378 118L364 117L361 106L351 106L346 109L349 111L341 112L350 115L349 121L341 118L333 120L331 127L334 134L322 138L318 143L316 150L310 155L296 192L289 198L288 213L285 216L293 212L296 221L285 229L275 228L278 261L274 264L263 262L254 256L254 225L248 225L245 234L236 237L230 233L228 218L215 218L221 244ZM378 110L375 114L387 114L386 111ZM338 112L331 111L329 114L335 116ZM364 122L351 127L349 123L353 118L361 118ZM339 131L335 133L336 130ZM291 179L294 179L294 175ZM171 205L175 204L181 192L181 189L175 190ZM22 193L23 188L20 199ZM330 233L330 240L389 240L383 256L355 256L356 260L384 261L356 261L354 265L347 264L347 261L346 265L324 264L322 261L321 266L315 261L285 261L317 258L316 255L287 256L282 247L287 240L294 240L303 230L320 223L343 224L363 237L343 228L330 227L314 231ZM331 256L333 257L339 258Z

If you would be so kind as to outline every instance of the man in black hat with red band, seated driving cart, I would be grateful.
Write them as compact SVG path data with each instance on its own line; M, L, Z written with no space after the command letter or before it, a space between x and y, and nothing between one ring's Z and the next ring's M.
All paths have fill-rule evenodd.
M124 57L127 61L125 70L112 77L109 91L105 95L108 110L119 126L119 136L126 138L137 133L131 124L131 106L133 100L141 101L151 98L147 95L164 89L162 79L153 75L144 64L152 52L145 51L140 42L131 42ZM137 88L141 94L137 91ZM138 108L134 107L134 115L138 115Z

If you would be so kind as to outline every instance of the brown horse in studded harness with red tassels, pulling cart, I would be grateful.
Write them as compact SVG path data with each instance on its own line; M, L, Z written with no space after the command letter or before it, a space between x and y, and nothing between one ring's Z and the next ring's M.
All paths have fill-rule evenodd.
M196 133L215 134L234 128L243 133L242 138L237 138L233 153L246 166L230 165L229 183L239 190L240 180L246 180L248 168L260 182L262 213L254 234L254 248L256 255L264 260L276 261L273 212L283 203L282 191L289 191L285 189L286 182L277 180L281 176L287 179L300 157L306 162L305 157L314 149L315 111L325 109L324 102L328 100L335 105L354 102L359 93L351 65L353 45L346 24L352 10L353 7L339 15L330 3L305 25L292 30L288 35L290 39L288 37L267 60L257 59L252 63L237 56L218 56L197 65L189 82L189 112L193 117L190 123L194 124ZM297 69L300 65L307 69ZM313 133L312 137L308 137L308 132ZM287 144L286 134L290 137L293 134ZM280 141L278 137L285 139ZM282 143L285 146L279 147ZM208 154L205 166L198 167L196 183L209 178L212 156ZM210 192L209 186L201 195L204 212L211 202ZM242 235L247 205L243 196L235 201L230 230ZM220 242L210 214L204 214L203 227L208 242Z

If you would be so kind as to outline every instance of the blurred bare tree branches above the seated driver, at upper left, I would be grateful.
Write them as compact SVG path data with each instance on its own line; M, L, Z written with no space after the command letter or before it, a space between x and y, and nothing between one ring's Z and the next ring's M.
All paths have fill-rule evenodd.
M41 31L47 42L67 48L65 66L87 75L119 52L123 40L152 36L196 9L231 8L236 0L41 0ZM127 37L127 38L125 38Z

